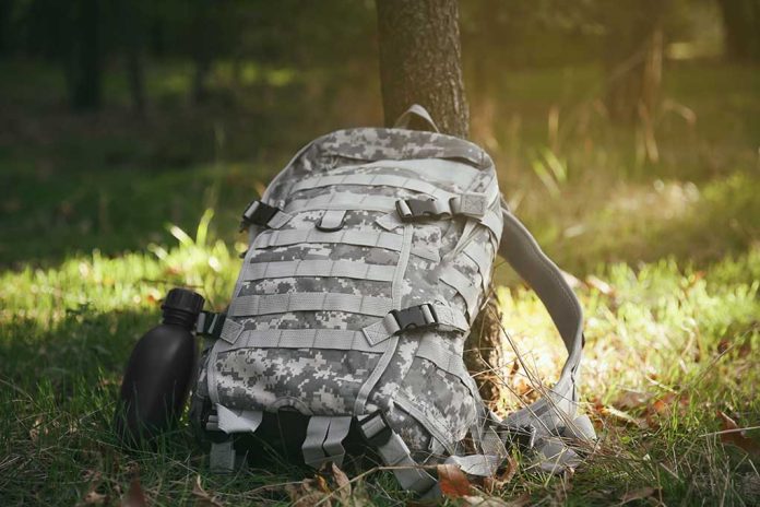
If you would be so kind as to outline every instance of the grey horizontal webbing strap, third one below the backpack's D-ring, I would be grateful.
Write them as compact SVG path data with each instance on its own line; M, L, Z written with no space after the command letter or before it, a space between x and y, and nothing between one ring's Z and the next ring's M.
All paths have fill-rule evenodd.
M346 311L381 317L393 308L389 297L326 292L239 296L229 307L231 317L287 314L289 311Z

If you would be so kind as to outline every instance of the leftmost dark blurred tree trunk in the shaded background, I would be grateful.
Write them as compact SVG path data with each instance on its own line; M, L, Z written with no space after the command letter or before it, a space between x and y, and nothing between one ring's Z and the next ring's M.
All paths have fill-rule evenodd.
M100 107L100 5L98 0L74 4L74 44L71 54L70 94L76 110Z

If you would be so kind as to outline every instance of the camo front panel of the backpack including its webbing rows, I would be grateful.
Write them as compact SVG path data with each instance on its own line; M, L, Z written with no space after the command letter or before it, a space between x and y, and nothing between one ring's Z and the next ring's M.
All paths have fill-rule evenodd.
M395 131L387 135L376 130L384 131L361 129L337 132L314 143L268 189L264 198L292 217L277 229L259 232L251 241L230 308L250 306L252 309L250 315L229 318L240 327L239 337L244 338L238 338L234 345L223 344L212 352L209 392L212 402L229 409L276 411L290 406L308 415L358 415L355 408L359 390L376 370L383 353L391 354L371 390L365 413L378 408L387 411L391 424L417 452L429 455L442 448L453 452L456 443L476 423L478 404L482 403L461 358L466 331L406 331L395 342L388 340L375 347L365 344L360 351L295 345L283 347L276 343L260 346L260 341L251 344L250 339L245 338L304 330L361 332L365 327L382 319L380 314L426 303L451 307L466 316L470 322L474 320L483 300L482 287L490 276L490 263L498 239L480 224L474 227L467 225L471 220L465 217L423 220L397 224L394 228L389 227L388 223L381 224L383 217L394 214L393 209L346 205L349 209L345 212L341 233L360 233L364 238L383 236L393 244L396 237L402 237L405 232L411 233L412 252L405 259L404 272L394 273L395 283L388 279L389 271L382 268L376 270L385 273L377 276L382 280L340 275L256 279L246 274L265 273L269 269L276 271L284 263L292 266L294 262L360 262L384 268L399 263L397 248L330 241L304 243L299 239L304 239L305 232L317 228L324 209L340 209L351 202L378 202L376 198L388 198L392 202L431 196L396 186L340 185L334 184L335 179L331 177L383 175L408 178L452 194L484 191L489 185L496 185L492 165L479 151L468 146L463 149L461 144L452 145L455 148L453 150L452 146L441 148L428 142L438 134ZM426 141L409 142L409 139L414 140L414 135L409 134L417 133L424 134ZM357 140L371 140L375 144L368 146ZM452 152L455 156L449 156ZM446 160L420 161L419 170L415 170L417 161L404 160L407 155L438 155ZM452 162L451 158L465 161L466 164ZM483 166L473 167L473 161ZM438 166L446 170L436 173ZM454 174L451 170L458 167L461 170L455 173L456 176L449 177ZM276 240L272 241L272 238ZM485 257L490 255L490 261L478 264L464 254L452 255L473 246L483 250ZM454 276L451 276L452 270L456 271ZM453 284L452 278L455 280ZM302 295L310 297L320 293L330 294L331 297L371 296L380 302L380 306L369 313L341 311L340 307L298 307ZM297 309L275 311L270 305L262 314L261 305L266 306L265 299L272 297L290 305L295 300ZM344 300L340 297L335 300ZM391 306L383 308L383 300ZM392 304L394 300L396 303ZM442 351L436 353L436 357L442 355L448 363L441 365L440 361L434 361L430 353L427 353L427 357L420 353L423 341L435 343L432 349ZM393 343L393 349L387 351L390 343Z

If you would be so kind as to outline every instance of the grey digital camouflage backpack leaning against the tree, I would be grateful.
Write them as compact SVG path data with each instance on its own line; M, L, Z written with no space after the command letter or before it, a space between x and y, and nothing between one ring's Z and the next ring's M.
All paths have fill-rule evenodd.
M432 131L409 130L409 119ZM226 316L204 314L191 418L211 465L236 437L298 414L302 460L341 464L349 432L400 484L440 494L430 468L488 475L521 441L556 469L593 437L575 416L582 314L557 267L507 210L494 163L440 134L413 106L395 128L330 133L304 148L244 214L249 229ZM569 351L559 381L506 420L489 412L462 354L501 254L536 291ZM285 438L290 438L287 433Z

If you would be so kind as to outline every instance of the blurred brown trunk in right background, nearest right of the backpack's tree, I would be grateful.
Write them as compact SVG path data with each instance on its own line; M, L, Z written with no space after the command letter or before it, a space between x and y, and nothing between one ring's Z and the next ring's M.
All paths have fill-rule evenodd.
M606 5L606 104L617 122L646 123L652 118L660 93L666 4L619 0Z

